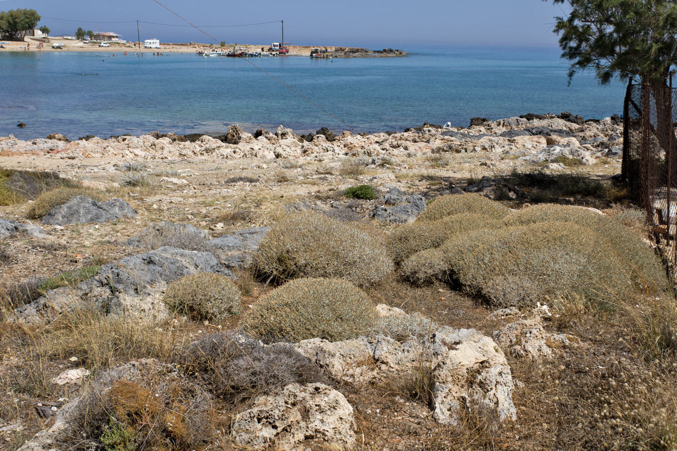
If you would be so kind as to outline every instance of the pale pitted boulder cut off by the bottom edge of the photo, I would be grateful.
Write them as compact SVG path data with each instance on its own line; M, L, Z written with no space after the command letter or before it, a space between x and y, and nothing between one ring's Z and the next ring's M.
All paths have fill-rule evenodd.
M305 440L355 444L353 407L339 391L322 383L292 383L276 394L261 396L238 414L233 425L240 446L291 451Z

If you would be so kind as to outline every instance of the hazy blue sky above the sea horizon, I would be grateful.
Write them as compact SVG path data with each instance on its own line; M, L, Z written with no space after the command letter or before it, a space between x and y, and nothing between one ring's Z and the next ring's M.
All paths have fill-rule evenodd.
M299 45L364 45L422 47L424 45L521 45L556 47L553 16L561 6L542 0L450 1L265 1L160 0L201 26L237 25L284 20L284 40ZM82 26L123 34L135 40L143 20L185 25L153 0L0 0L0 10L33 8L52 34L74 34ZM63 22L56 19L83 21ZM219 41L269 43L280 41L280 24L205 28ZM194 28L141 23L141 40L209 42Z

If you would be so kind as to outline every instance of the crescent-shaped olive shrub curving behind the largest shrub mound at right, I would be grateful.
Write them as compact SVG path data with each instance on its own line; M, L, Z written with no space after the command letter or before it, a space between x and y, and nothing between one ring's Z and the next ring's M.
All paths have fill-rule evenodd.
M638 289L655 293L667 287L665 270L651 247L614 218L588 208L554 204L531 206L504 218L508 227L551 221L576 224L602 237L621 259L620 264L630 270Z

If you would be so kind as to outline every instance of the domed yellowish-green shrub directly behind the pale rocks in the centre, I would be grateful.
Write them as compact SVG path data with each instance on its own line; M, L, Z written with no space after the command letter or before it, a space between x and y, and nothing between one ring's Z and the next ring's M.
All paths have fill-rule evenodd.
M244 318L250 336L267 343L369 333L376 309L364 291L340 279L297 279L263 296Z

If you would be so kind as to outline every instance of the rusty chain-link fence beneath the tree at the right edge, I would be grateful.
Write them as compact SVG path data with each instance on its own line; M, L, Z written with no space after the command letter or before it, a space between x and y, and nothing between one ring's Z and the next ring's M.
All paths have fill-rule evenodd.
M623 176L647 212L663 257L677 263L677 89L628 85L624 111Z

